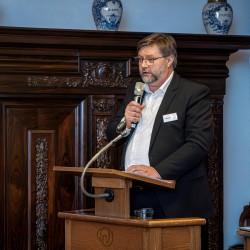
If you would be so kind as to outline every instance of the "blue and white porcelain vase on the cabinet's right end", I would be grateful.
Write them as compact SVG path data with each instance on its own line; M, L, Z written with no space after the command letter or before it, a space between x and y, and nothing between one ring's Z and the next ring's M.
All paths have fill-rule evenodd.
M227 35L233 22L233 9L227 0L208 0L202 10L208 34Z

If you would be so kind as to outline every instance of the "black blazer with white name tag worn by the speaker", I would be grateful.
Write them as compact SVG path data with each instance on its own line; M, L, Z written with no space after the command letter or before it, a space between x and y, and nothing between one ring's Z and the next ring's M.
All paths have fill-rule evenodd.
M117 136L116 126L124 117L127 104L134 99L134 86L128 87L121 110L107 128L109 140ZM163 116L169 114L176 114L177 119L164 122ZM130 136L119 143L128 141ZM209 88L174 73L156 115L149 147L150 165L162 179L176 180L175 190L157 189L167 217L212 215L204 161L212 141Z

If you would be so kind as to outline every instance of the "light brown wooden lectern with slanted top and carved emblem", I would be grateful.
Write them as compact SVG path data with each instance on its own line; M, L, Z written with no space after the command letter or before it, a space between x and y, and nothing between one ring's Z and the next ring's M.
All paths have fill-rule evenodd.
M81 175L83 168L54 167L56 172ZM95 209L59 212L65 219L66 250L200 250L202 218L141 219L130 217L130 188L133 181L143 185L174 188L171 180L156 180L114 169L89 168L95 194L109 188L112 201L96 198Z

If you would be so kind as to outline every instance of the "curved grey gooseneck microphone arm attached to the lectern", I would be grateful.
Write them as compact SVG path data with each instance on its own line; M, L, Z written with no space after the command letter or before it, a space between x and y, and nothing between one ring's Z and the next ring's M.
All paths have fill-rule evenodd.
M81 180L80 180L80 184L81 184L81 189L82 192L91 197L91 198L105 198L106 201L112 201L114 198L114 193L112 190L110 189L106 189L105 193L103 194L91 194L89 192L86 191L86 189L84 188L84 177L85 174L89 168L89 166L103 153L105 152L108 148L110 148L112 145L114 145L117 141L119 141L122 137L126 136L128 133L128 131L125 129L121 132L121 134L119 134L115 139L113 139L112 141L110 141L104 148L102 148L99 152L97 152L94 157L87 163L86 167L84 168L82 175L81 175Z

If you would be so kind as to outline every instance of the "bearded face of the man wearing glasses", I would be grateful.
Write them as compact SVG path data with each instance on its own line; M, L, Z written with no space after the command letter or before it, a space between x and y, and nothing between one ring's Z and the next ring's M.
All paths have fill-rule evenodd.
M139 71L143 81L150 87L160 87L173 71L171 58L163 57L156 45L141 48L138 57L145 59L139 63ZM156 60L152 60L151 65L147 59Z

